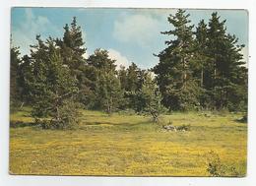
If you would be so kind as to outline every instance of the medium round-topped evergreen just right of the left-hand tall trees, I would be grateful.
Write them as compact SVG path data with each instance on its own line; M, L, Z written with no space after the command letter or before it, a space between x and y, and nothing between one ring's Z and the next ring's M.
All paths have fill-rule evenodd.
M111 114L120 106L123 97L115 60L109 58L107 50L96 49L87 64L91 68L87 78L92 81L91 89L96 95L92 98L94 107Z

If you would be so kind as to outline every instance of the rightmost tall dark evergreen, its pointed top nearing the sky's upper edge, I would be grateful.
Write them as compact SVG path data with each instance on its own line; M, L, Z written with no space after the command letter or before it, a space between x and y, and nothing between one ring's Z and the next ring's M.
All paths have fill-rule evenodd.
M237 44L238 39L235 35L226 33L224 24L225 20L221 22L217 13L212 14L207 42L207 54L211 58L208 69L212 76L209 76L205 87L211 93L217 109L235 107L236 103L230 102L229 95L236 94L234 90L240 90L238 88L240 86L241 89L246 88L246 85L236 83L239 76L237 73L244 65L240 54L243 45ZM237 104L239 103L237 102Z

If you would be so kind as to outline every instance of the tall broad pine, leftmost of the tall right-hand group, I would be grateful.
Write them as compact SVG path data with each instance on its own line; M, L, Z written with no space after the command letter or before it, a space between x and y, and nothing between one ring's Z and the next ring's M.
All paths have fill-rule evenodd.
M194 26L188 17L181 9L174 16L169 15L168 22L174 29L161 32L171 39L165 41L167 47L158 55L160 63L153 69L163 95L162 103L170 109L194 109L199 105L200 88L191 71Z

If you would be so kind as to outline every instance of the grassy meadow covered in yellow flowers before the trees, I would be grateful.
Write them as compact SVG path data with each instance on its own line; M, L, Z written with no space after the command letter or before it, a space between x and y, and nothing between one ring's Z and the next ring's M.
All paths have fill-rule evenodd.
M150 117L83 111L77 130L10 129L10 172L50 175L209 176L207 155L246 174L247 125L239 114L173 113L160 118L190 131L166 132ZM30 110L11 121L31 122ZM232 176L231 174L227 176Z

